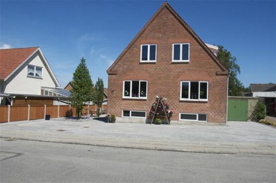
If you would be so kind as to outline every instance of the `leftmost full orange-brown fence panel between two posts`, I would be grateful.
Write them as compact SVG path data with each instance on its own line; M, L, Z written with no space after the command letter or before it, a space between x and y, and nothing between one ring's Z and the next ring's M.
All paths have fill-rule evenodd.
M28 106L11 106L10 122L28 120Z

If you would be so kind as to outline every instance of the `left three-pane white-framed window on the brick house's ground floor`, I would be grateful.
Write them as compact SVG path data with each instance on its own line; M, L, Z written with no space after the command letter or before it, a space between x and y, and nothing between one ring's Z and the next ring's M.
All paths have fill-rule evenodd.
M147 99L148 81L124 81L123 98Z

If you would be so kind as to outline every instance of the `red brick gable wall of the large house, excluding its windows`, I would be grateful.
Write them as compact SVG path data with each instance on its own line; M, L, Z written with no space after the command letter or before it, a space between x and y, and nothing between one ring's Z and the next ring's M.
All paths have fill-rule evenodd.
M140 45L157 44L156 63L140 63ZM172 63L172 43L190 43L190 63ZM227 76L218 76L219 66L204 51L191 34L167 8L112 68L116 75L108 76L108 112L121 117L123 109L149 113L156 96L165 97L174 111L171 120L180 112L206 113L208 122L226 122ZM124 80L147 80L148 99L122 99ZM180 101L180 81L209 81L208 102ZM111 93L114 90L114 93Z

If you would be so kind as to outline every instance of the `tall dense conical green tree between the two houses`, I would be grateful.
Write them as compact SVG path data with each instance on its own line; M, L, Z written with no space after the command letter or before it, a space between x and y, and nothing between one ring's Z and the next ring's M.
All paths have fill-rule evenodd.
M80 119L85 102L89 102L93 98L93 82L84 57L73 74L72 90L70 92L71 105L76 108L77 118Z

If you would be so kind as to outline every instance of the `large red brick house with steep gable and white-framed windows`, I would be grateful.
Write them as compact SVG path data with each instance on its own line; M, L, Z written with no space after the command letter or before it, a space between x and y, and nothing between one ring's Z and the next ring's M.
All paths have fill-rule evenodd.
M108 68L108 113L145 120L156 96L172 121L227 121L228 70L164 2Z

